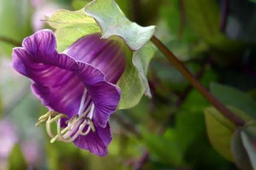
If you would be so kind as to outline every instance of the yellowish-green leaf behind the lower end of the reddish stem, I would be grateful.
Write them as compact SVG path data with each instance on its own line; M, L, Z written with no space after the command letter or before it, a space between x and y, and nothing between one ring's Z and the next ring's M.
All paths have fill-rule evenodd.
M241 110L231 106L228 106L228 108L241 117L242 120L250 120L246 113ZM225 157L225 159L233 161L230 142L232 135L236 130L236 126L214 107L208 107L205 109L205 122L207 135L211 145L219 152L220 155Z

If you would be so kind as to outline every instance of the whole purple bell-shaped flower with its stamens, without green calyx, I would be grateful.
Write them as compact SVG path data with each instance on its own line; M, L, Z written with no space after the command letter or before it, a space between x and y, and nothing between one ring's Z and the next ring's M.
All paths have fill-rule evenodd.
M32 91L50 110L38 123L46 122L51 142L74 142L105 156L112 140L109 116L121 95L115 83L126 64L123 43L95 33L58 53L54 33L45 29L24 39L12 55L14 69L31 79ZM55 120L56 136L50 129Z

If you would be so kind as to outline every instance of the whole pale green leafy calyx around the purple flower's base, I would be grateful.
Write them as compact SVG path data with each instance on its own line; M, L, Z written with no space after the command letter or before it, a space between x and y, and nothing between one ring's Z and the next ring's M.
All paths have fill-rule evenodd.
M127 45L127 67L117 85L122 89L119 109L136 106L143 93L151 97L146 77L155 47L150 42L155 26L142 27L128 20L114 0L93 0L79 11L58 10L46 17L56 29L58 50L62 52L78 38L96 32L102 38L116 35Z

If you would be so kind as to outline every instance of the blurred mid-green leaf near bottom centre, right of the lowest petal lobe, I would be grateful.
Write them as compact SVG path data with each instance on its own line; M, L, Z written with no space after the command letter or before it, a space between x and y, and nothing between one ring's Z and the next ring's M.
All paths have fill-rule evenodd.
M183 163L175 130L168 129L164 136L142 130L142 138L150 153L160 161L173 166L179 166Z

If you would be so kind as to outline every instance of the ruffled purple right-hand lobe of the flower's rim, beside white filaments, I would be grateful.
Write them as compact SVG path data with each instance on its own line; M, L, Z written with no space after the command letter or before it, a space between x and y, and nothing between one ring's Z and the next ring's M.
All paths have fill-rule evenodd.
M86 84L95 105L95 113L93 116L95 125L105 127L109 116L115 112L118 107L121 90L118 86L104 81L104 74L100 71L98 71L97 76L95 76L96 70L92 72L92 68L88 69L90 65L82 62L78 62L78 65L80 68L79 77L83 83Z

